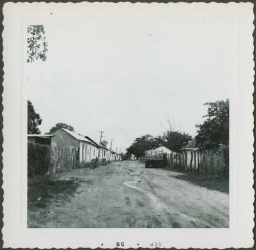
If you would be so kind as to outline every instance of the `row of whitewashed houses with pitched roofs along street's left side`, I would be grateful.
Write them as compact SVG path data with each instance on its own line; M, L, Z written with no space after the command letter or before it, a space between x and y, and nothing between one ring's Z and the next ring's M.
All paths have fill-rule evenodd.
M61 172L76 167L105 165L121 160L121 155L99 145L89 136L60 128L51 135L28 135L28 142L47 144L51 148L50 172Z

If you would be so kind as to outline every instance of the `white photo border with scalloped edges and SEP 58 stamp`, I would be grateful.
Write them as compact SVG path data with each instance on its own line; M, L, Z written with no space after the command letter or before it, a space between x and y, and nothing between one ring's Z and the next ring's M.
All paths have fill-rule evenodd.
M29 20L43 23L54 12L59 18L87 15L120 17L160 15L174 17L224 16L236 27L237 81L230 98L230 202L228 229L28 229L27 228L27 99L24 93L24 27ZM253 5L251 3L6 3L3 8L3 189L4 247L123 248L149 247L161 242L170 248L251 247L254 227L253 186ZM26 30L25 30L26 31ZM233 122L234 121L234 122ZM15 157L13 157L15 152ZM234 166L234 167L232 167ZM103 244L103 245L101 245ZM138 245L139 244L139 245ZM159 246L159 245L158 245Z

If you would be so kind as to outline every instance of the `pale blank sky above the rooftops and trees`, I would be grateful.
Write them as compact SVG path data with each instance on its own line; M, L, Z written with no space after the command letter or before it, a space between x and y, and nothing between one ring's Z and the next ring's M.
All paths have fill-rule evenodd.
M224 18L53 18L47 60L25 66L27 98L42 118L125 153L136 137L165 132L168 115L191 136L206 102L230 97L234 22ZM167 125L167 124L166 124ZM110 143L108 144L110 147Z

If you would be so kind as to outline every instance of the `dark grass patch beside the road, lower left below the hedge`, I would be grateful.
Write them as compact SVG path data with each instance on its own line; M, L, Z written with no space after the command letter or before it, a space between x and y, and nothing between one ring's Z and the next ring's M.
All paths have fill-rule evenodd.
M52 199L67 201L78 188L75 180L33 178L28 180L28 209L45 208Z

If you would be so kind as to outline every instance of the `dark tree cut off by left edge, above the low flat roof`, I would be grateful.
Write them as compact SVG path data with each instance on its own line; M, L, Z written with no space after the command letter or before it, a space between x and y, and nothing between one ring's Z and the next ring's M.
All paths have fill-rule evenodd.
M38 126L41 122L40 115L35 112L33 104L28 101L28 134L40 134Z

